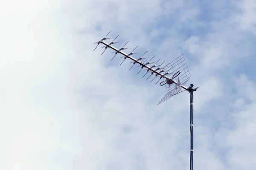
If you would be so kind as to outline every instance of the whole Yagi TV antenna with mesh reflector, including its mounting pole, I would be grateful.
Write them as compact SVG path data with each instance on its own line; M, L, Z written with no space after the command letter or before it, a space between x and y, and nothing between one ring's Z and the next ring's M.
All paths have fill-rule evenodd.
M111 31L109 31L110 33ZM108 33L108 34L109 34ZM190 170L193 170L193 160L194 160L194 150L193 150L193 126L194 126L194 122L193 122L193 105L194 105L194 101L193 101L193 93L194 91L196 91L198 88L194 88L193 84L190 84L189 88L187 88L185 86L186 82L188 82L189 78L191 77L190 73L189 73L189 69L186 65L186 61L185 61L185 57L184 55L180 55L179 57L177 57L175 60L173 60L172 62L169 62L167 65L163 66L163 63L165 61L163 61L160 65L157 65L157 62L160 61L160 59L157 60L157 62L151 62L151 60L155 57L153 56L148 62L143 63L141 60L146 59L143 58L143 56L148 52L146 51L140 58L135 59L132 57L132 55L137 54L134 53L135 49L138 47L135 47L133 51L131 51L131 53L129 54L125 54L123 52L123 50L128 49L125 48L125 45L129 42L126 42L125 45L118 49L113 47L112 45L117 43L115 42L116 38L119 36L117 36L112 42L107 43L105 42L105 40L108 40L110 38L107 38L108 34L102 38L101 40L95 42L94 44L97 44L96 48L98 47L99 44L103 44L104 46L102 48L105 48L105 50L102 52L102 54L106 51L107 48L111 48L113 50L112 54L114 53L114 57L116 57L117 54L122 54L121 58L124 58L124 60L121 62L121 64L125 61L125 59L131 59L132 61L130 62L130 64L132 64L131 68L135 65L138 64L141 69L140 71L144 68L143 71L146 71L145 75L148 74L149 72L151 73L151 75L147 78L149 79L152 75L154 75L154 78L151 80L151 82L154 81L154 79L158 78L157 82L155 84L157 84L158 82L160 82L160 80L162 80L160 82L160 86L164 86L166 87L167 90L167 94L165 96L163 96L163 98L158 102L157 105L159 105L160 103L166 101L167 99L169 99L172 96L175 96L176 94L179 94L181 89L183 89L184 91L188 91L190 93ZM95 49L96 49L95 48ZM95 51L95 49L93 51ZM101 54L101 55L102 55ZM113 60L114 57L111 59ZM120 65L121 65L120 64ZM131 70L131 68L129 70ZM139 74L140 71L137 73ZM145 77L145 75L143 77Z

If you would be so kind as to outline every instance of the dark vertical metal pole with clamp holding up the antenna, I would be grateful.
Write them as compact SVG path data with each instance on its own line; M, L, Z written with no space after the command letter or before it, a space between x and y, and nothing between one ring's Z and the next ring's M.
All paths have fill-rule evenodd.
M188 91L190 92L190 170L193 170L194 163L194 109L193 109L193 101L194 101L194 91L196 88L193 88L193 84L190 84Z

